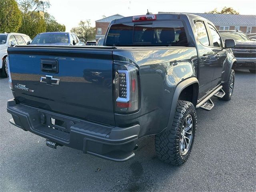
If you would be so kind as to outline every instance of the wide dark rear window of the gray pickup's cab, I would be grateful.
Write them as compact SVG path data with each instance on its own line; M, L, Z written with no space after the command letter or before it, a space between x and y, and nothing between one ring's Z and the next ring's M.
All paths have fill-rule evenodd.
M187 37L183 23L178 20L156 21L152 24L114 24L106 38L107 46L186 45Z

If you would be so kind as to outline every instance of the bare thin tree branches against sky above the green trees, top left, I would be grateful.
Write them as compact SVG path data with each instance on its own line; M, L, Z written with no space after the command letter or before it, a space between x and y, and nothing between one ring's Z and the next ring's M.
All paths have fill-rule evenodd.
M49 0L17 0L23 13L44 11L50 7Z

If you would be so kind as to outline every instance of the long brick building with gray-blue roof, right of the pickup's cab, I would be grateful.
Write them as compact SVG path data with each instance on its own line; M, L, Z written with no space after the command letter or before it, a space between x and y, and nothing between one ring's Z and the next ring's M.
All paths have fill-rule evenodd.
M173 12L158 12L173 13ZM211 21L217 30L240 30L244 33L256 33L256 15L189 13Z

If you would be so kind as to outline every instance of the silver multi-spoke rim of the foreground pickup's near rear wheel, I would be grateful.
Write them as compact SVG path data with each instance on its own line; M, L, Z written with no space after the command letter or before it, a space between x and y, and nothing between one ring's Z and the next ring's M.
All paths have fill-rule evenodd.
M186 119L182 125L180 132L180 153L185 155L190 149L193 139L193 118L190 114L186 116Z

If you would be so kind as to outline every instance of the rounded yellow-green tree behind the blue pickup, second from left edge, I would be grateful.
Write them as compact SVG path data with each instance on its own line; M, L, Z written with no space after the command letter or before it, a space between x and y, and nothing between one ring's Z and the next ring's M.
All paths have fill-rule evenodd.
M44 18L38 12L23 13L22 25L18 32L27 34L30 38L34 38L38 33L45 32L46 24Z

